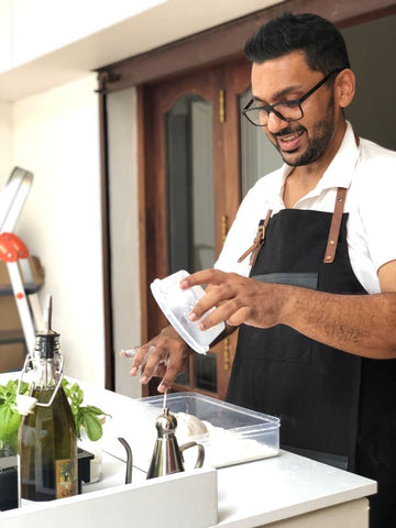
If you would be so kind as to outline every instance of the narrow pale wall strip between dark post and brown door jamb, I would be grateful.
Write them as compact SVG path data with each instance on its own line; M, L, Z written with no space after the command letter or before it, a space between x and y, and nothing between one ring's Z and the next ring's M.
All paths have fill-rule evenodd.
M129 375L131 361L117 353L141 343L135 88L109 95L107 108L116 391L140 397L139 380Z

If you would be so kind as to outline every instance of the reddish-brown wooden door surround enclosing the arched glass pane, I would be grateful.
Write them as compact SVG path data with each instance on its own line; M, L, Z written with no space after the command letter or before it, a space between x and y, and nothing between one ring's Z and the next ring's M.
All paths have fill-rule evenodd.
M144 187L146 201L145 229L150 232L146 238L146 284L142 285L147 292L146 330L147 338L156 336L166 324L166 320L151 295L148 284L156 277L164 277L172 270L168 268L168 205L167 205L167 169L165 146L165 116L177 100L186 95L194 94L212 105L212 134L213 134L213 198L216 234L216 257L223 245L223 231L233 221L241 198L240 178L240 110L239 97L250 87L250 63L245 57L210 65L185 75L170 77L160 82L146 85L142 90L142 105L145 109L144 127L147 136L143 138L145 145L154 148L144 150ZM222 97L220 97L220 95ZM223 103L220 103L220 99ZM220 111L220 108L222 111ZM246 241L246 245L251 241ZM148 260L150 258L150 260ZM217 358L217 391L212 396L224 398L228 386L229 367L233 359L235 336L229 338L212 349ZM190 362L190 389L202 392L196 387L194 362ZM153 381L150 387L155 392L157 382ZM175 385L176 387L176 385ZM182 389L183 387L178 387Z

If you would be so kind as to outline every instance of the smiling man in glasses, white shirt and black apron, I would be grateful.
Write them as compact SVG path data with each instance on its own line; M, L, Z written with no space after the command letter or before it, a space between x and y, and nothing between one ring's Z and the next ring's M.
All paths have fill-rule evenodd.
M227 399L279 416L290 449L377 480L371 526L396 526L396 153L345 121L355 78L331 23L284 14L245 52L244 114L285 165L243 200L216 270L182 282L208 284L190 318L217 307L201 329L240 329ZM148 346L141 382L157 369L164 392L187 345L167 327L132 375Z

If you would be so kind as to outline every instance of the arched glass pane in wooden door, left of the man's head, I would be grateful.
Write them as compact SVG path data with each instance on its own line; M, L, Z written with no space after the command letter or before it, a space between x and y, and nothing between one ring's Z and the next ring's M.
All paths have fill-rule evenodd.
M166 113L169 273L215 263L212 103L186 95Z

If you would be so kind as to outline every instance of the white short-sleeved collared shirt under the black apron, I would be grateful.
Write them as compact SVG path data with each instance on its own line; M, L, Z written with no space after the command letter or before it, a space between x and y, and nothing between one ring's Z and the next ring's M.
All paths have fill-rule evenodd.
M263 176L243 199L215 267L248 276L249 257L238 258L253 243L258 221L268 209L285 208L283 187L293 167ZM380 293L378 268L396 260L396 152L361 140L350 123L341 146L315 189L295 209L332 212L338 187L346 187L346 240L352 270L369 294Z

